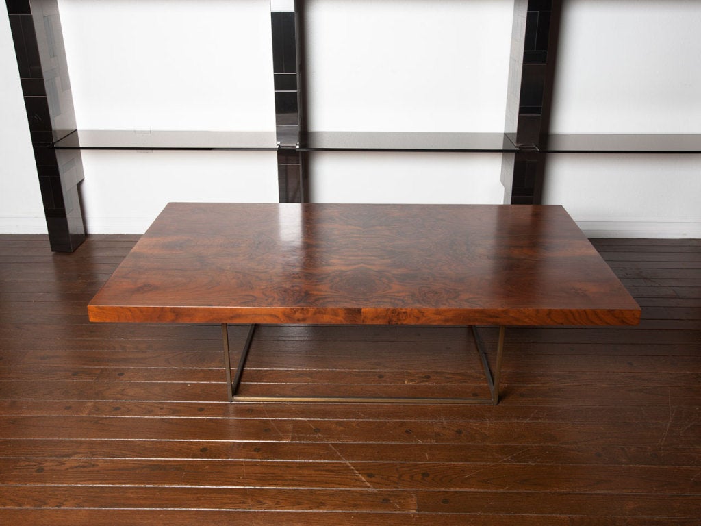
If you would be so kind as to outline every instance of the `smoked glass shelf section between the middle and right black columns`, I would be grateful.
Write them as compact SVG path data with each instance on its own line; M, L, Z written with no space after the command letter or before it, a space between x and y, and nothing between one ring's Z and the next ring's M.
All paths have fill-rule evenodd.
M303 151L516 151L503 133L306 132Z

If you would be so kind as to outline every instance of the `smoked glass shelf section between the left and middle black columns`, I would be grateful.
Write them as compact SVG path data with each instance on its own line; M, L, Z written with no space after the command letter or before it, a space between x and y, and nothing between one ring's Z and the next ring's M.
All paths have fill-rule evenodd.
M275 131L73 130L56 149L275 150Z

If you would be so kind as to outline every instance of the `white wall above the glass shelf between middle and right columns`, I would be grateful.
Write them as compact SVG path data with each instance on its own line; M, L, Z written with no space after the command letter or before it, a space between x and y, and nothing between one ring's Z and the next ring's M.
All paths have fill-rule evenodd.
M513 2L307 2L308 128L502 132Z

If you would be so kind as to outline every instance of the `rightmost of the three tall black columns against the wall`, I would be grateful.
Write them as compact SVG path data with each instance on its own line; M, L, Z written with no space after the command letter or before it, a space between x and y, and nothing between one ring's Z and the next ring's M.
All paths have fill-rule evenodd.
M538 204L543 196L560 12L560 0L528 2L512 204Z

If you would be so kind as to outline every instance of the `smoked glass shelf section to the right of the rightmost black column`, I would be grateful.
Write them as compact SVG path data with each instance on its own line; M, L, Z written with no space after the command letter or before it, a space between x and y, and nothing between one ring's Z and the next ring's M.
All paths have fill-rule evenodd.
M547 137L551 153L695 154L701 153L698 133L553 133Z

